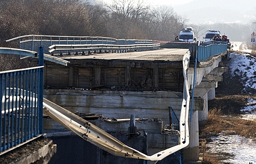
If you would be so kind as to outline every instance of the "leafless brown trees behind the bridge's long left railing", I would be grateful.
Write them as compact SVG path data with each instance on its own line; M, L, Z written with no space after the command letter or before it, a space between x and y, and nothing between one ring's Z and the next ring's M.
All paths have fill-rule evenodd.
M143 0L1 0L0 44L30 34L170 41L186 21L172 7L152 7Z

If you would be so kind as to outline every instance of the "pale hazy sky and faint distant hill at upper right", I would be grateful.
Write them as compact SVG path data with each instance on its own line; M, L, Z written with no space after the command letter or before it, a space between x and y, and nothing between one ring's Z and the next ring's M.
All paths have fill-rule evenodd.
M111 0L97 0L111 2ZM251 23L256 20L256 0L144 0L151 6L171 6L190 24Z

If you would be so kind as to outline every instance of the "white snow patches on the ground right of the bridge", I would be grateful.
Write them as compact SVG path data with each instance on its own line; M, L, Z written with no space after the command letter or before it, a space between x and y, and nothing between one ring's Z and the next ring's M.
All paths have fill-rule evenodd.
M242 44L236 43L234 49ZM245 51L243 51L245 52ZM247 89L256 89L256 58L249 54L231 53L231 60L226 63L233 75L239 74L245 81L243 84ZM239 70L239 71L238 71ZM256 100L249 98L248 104L241 111L247 112L243 115L243 119L256 121ZM211 138L213 142L209 142L207 146L211 148L209 151L223 152L231 154L230 158L223 161L225 164L256 164L256 143L251 139L241 137L239 135L220 134Z

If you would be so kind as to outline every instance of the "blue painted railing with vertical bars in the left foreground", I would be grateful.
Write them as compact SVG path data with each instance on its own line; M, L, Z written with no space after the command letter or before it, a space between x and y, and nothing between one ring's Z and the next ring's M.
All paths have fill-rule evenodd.
M42 50L39 67L0 72L0 155L43 133ZM31 56L36 52L0 48L0 53Z

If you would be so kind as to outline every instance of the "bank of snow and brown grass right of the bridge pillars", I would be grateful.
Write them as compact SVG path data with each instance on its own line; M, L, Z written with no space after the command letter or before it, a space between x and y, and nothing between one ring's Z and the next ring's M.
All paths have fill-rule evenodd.
M256 121L241 119L243 114L255 111L255 103L248 105L248 101L256 100L254 85L256 58L241 52L231 51L231 53L232 59L224 60L228 71L223 74L223 82L218 82L216 98L208 101L209 119L205 125L200 126L202 164L239 164L241 161L233 163L223 160L240 159L245 156L245 154L235 156L235 153L228 153L223 149L217 151L209 148L208 144L213 142L211 139L213 136L220 134L225 137L241 136L256 142ZM245 107L249 107L250 111L241 110ZM223 144L228 144L228 141L223 141ZM243 158L246 160L245 157ZM254 160L256 159L250 158L248 163L255 162ZM243 162L247 164L247 161Z

